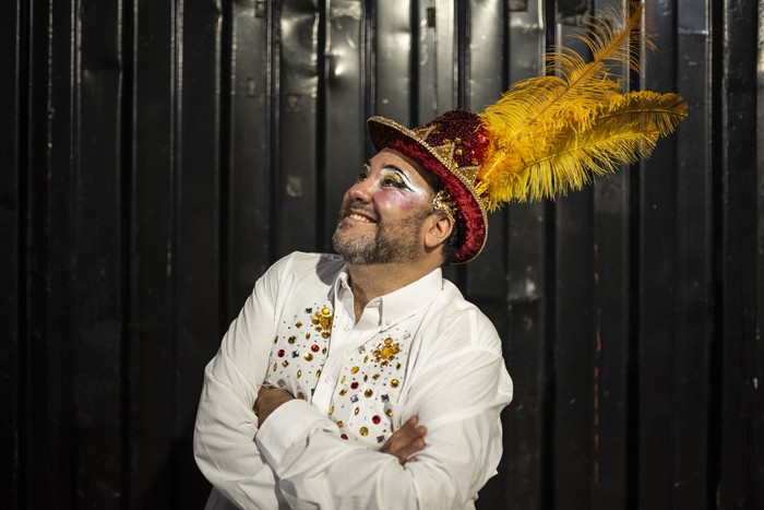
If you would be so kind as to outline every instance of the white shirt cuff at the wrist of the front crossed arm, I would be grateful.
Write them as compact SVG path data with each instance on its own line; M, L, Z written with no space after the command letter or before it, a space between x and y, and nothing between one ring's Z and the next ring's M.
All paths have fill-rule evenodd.
M312 405L300 399L286 402L271 413L254 435L254 440L271 467L275 470L273 462L280 462L287 449L306 436L322 417Z

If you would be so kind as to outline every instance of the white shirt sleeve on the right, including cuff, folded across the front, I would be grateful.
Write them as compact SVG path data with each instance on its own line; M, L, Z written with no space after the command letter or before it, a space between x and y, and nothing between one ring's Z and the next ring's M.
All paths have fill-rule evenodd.
M471 508L501 459L501 410L512 382L500 355L470 351L417 376L403 406L427 426L417 462L343 440L310 404L282 405L255 436L296 509Z

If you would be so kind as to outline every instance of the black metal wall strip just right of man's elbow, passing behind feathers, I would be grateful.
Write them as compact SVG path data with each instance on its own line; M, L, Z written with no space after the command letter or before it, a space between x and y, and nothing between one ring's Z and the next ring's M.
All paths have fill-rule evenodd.
M505 19L508 83L542 72L546 48L545 3L510 3ZM508 207L506 313L504 356L515 381L513 408L504 413L506 437L501 473L506 508L551 508L551 312L553 273L547 263L549 207L544 203Z

